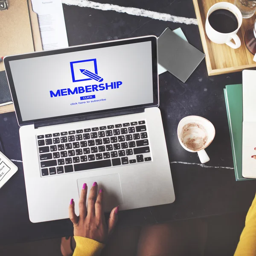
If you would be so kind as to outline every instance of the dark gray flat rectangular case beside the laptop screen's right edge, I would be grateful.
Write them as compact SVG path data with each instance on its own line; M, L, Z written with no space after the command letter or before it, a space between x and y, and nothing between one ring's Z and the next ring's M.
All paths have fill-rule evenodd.
M186 82L205 54L167 28L157 40L158 63Z

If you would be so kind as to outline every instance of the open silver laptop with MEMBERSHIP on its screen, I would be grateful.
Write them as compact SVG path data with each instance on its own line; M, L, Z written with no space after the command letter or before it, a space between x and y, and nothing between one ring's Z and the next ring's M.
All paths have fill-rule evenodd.
M7 56L29 219L79 214L83 183L109 212L175 200L159 105L157 38Z

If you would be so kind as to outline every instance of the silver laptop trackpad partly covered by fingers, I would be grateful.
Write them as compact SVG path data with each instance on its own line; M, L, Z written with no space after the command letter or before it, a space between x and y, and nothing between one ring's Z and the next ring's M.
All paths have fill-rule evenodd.
M93 182L98 183L98 192L99 189L104 191L104 211L110 212L114 207L123 203L122 198L122 189L119 174L110 174L96 177L89 177L84 179L77 180L79 196L84 183L88 186L87 199L89 196L90 188L93 186ZM86 202L87 204L87 202Z

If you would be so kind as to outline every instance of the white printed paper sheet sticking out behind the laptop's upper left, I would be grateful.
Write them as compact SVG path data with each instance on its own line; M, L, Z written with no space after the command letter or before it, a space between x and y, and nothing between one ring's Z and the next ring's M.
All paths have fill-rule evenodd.
M68 47L61 0L32 0L32 8L38 14L43 50Z

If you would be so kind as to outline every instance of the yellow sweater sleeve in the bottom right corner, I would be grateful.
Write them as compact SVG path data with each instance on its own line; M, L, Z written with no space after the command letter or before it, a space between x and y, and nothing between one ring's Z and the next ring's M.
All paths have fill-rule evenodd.
M234 256L256 256L256 197L247 213Z

